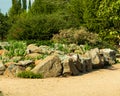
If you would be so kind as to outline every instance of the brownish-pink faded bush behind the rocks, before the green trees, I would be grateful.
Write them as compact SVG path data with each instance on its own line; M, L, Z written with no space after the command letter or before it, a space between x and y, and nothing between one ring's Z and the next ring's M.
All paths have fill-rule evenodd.
M85 28L80 29L64 29L59 34L55 34L52 38L53 42L57 43L75 43L75 44L94 44L98 41L98 35L89 32Z

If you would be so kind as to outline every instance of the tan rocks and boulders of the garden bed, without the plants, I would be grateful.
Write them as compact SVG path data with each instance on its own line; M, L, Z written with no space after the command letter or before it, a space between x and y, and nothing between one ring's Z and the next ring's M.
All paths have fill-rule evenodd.
M13 57L11 62L5 64L0 61L0 74L14 77L19 72L32 71L33 73L42 74L45 78L74 76L90 72L94 68L103 68L116 62L116 52L111 49L95 48L85 52L81 47L73 47L72 45L68 50L72 51L64 53L57 50L57 47L52 49L48 46L38 47L30 44L26 49L27 54L25 56L29 59L21 60L21 57ZM42 59L43 54L44 59ZM36 60L32 58L36 58ZM15 60L17 62L14 62Z

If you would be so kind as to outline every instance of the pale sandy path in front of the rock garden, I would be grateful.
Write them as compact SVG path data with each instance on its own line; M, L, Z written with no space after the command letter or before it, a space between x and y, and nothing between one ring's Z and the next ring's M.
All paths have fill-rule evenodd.
M67 78L0 77L0 90L5 96L120 96L120 64Z

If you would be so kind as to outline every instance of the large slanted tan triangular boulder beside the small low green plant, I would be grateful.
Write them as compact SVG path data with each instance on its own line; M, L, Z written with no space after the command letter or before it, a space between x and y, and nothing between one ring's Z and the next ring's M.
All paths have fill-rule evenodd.
M51 55L43 59L32 69L33 73L42 74L43 77L57 77L62 74L61 60L58 55Z

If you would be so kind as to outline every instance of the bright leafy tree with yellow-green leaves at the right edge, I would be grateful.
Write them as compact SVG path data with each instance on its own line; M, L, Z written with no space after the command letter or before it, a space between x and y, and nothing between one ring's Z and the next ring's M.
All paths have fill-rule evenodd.
M101 20L102 40L118 44L120 41L120 0L101 1L97 16Z

